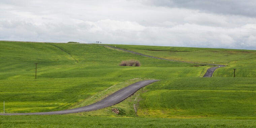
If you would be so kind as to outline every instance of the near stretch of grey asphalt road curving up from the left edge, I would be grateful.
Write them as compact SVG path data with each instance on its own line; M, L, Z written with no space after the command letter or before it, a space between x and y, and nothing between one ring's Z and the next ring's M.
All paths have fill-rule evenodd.
M145 81L136 82L134 84L131 84L127 87L124 87L114 92L113 94L107 96L106 98L96 103L93 103L84 107L78 107L74 109L61 110L61 111L49 111L49 112L40 112L40 113L9 113L9 114L7 113L7 114L0 114L0 115L55 115L55 114L70 114L70 113L80 113L84 111L93 111L93 110L105 108L105 107L120 103L121 101L128 98L130 95L135 93L140 88L157 81L159 80L145 80Z

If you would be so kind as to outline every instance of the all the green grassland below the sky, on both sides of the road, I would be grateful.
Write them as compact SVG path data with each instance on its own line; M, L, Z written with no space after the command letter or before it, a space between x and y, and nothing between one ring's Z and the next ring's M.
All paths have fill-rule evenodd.
M202 78L212 66L196 67L190 63L158 60L97 44L0 41L0 106L5 101L7 113L54 111L85 106L137 81L161 79L114 106L68 115L0 116L0 126L255 126L255 51L116 46L167 59L228 63L228 67L219 68L212 78ZM172 52L176 51L189 52L177 52L177 55L172 56ZM212 59L207 58L210 55ZM141 66L119 66L121 61L129 59L139 60ZM37 79L34 76L34 63L38 63ZM247 65L241 66L243 64ZM231 77L233 67L237 68L237 78ZM111 108L119 108L120 114L113 113ZM3 107L0 107L0 112L2 111Z

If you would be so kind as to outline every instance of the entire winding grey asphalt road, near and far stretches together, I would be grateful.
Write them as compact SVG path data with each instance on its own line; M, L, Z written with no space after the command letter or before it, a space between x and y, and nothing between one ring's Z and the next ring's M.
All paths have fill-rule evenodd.
M111 48L122 50L122 51L126 51L126 52L137 54L137 55L140 55L140 56L155 58L155 59L175 61L175 62L184 62L184 63L193 63L193 62L169 60L169 59L164 59L164 58L148 56L148 55L140 54L140 53L137 53L137 52L121 49L119 47L113 47L113 46L108 46L108 45L103 45L103 46L111 47ZM193 64L203 64L203 63L193 63ZM217 65L217 64L204 64L204 65L215 65L216 67L209 68L206 71L206 73L204 74L203 77L212 77L214 71L217 68L225 67L225 65ZM112 105L115 105L117 103L120 103L123 100L125 100L126 98L128 98L129 96L131 96L133 93L135 93L140 88L142 88L144 86L147 86L151 83L157 82L157 81L159 81L159 80L145 80L145 81L136 82L134 84L131 84L131 85L125 87L125 88L122 88L122 89L116 91L115 93L107 96L106 98L104 98L104 99L102 99L102 100L100 100L96 103L93 103L93 104L90 104L90 105L87 105L87 106L84 106L84 107L78 107L78 108L60 110L60 111L49 111L49 112L38 112L38 113L5 113L5 114L0 114L0 115L56 115L56 114L70 114L70 113L80 113L80 112L85 112L85 111L98 110L98 109L101 109L101 108L105 108L105 107L112 106Z

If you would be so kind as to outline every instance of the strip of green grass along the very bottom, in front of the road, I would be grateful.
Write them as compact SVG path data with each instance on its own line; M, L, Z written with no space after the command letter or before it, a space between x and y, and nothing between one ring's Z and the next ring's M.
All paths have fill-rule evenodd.
M254 128L256 120L112 118L74 115L0 116L0 127L43 128Z

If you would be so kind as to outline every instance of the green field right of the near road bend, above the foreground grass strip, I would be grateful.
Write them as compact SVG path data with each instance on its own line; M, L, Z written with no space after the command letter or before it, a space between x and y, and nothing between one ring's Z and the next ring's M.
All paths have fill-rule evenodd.
M256 119L256 78L176 78L146 87L139 116ZM150 90L150 91L149 91Z

